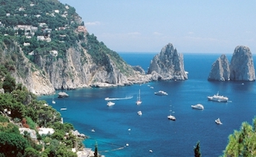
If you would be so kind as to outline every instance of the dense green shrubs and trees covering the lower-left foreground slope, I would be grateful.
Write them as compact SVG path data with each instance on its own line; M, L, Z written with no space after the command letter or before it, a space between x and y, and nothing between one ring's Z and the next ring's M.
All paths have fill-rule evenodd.
M8 92L0 94L0 156L76 156L71 149L83 148L83 139L72 134L73 125L60 123L59 112L44 105L45 101L37 101L21 84L15 85L4 66L0 69L5 82L11 82L3 83ZM42 136L37 133L37 139L31 139L26 131L21 135L21 125L36 132L37 127L50 127L55 132Z

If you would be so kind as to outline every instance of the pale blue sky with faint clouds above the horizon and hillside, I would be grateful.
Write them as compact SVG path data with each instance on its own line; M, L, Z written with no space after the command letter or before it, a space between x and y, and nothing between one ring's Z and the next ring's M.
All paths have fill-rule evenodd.
M256 54L256 0L59 0L116 52Z

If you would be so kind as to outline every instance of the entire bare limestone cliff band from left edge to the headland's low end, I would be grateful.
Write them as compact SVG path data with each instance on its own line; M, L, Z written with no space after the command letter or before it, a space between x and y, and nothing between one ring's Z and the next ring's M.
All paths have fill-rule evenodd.
M105 65L97 65L82 46L70 47L66 58L37 56L30 62L18 43L0 50L0 62L8 65L17 83L35 95L51 95L57 89L111 87L150 82L151 75L141 75L121 58L106 55ZM81 62L86 60L86 62Z

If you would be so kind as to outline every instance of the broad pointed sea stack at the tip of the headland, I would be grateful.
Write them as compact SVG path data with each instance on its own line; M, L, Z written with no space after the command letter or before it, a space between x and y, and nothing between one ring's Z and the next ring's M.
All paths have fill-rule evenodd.
M184 70L183 54L178 54L172 43L168 43L160 54L154 56L147 74L151 74L152 79L155 81L188 79Z

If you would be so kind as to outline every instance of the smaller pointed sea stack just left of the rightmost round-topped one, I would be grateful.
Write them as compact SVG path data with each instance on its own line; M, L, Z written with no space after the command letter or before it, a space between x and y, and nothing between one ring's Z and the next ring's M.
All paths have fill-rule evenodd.
M227 57L222 54L212 64L211 72L209 73L209 81L227 81L230 77L229 62Z

